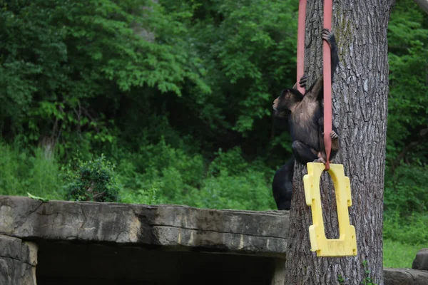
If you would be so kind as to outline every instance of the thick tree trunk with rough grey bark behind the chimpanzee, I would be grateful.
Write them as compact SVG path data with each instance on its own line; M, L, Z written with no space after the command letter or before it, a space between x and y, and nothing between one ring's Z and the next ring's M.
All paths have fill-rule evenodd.
M295 166L285 284L383 284L382 212L387 132L387 25L394 0L334 0L332 31L340 63L333 83L333 120L340 133L341 163L350 177L350 223L357 232L356 257L317 257L310 252L310 207L305 204L303 175ZM309 85L322 73L323 2L307 1L305 73ZM297 20L296 20L297 21ZM328 239L338 237L334 187L329 175L321 182L322 209ZM370 274L365 273L367 261ZM338 277L341 276L341 277ZM367 283L362 283L366 280Z

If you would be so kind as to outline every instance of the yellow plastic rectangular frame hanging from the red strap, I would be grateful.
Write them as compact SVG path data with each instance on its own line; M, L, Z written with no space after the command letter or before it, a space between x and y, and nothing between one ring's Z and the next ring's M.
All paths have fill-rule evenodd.
M312 207L312 222L309 227L311 251L317 257L345 257L357 255L355 227L350 224L348 207L352 205L351 185L345 176L343 165L330 163L328 173L335 185L339 239L325 237L320 196L320 177L325 165L318 162L307 163L307 175L303 177L306 204Z

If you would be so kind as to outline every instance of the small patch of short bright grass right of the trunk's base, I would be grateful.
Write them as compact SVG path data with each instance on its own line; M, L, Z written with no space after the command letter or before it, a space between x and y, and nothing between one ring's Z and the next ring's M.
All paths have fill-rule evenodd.
M402 244L390 239L384 239L383 244L383 264L390 268L412 268L417 252L428 247L428 244Z

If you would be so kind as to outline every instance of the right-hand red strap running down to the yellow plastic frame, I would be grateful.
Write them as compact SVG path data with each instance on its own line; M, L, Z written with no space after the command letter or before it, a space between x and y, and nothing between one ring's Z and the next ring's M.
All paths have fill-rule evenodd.
M332 0L324 0L324 28L332 29ZM324 145L327 160L325 170L330 169L330 152L332 151L332 65L331 51L327 41L322 41L322 61L324 64Z

